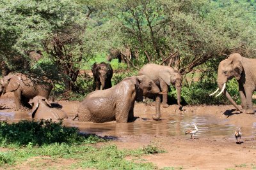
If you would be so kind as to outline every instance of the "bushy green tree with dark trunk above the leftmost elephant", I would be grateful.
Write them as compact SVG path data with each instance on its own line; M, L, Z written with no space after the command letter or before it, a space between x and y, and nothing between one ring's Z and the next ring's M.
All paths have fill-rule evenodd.
M0 3L0 57L12 66L10 60L20 55L28 62L29 50L40 50L50 60L36 64L29 72L63 74L65 89L75 90L81 62L92 57L86 51L86 22L90 14L71 0L4 0ZM89 42L90 43L90 42ZM85 50L84 50L85 49ZM58 73L49 71L47 65L57 67ZM56 69L54 69L56 71ZM24 69L15 69L24 72ZM58 75L57 75L58 76Z

